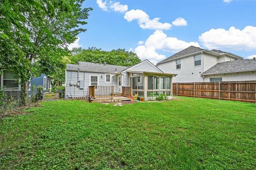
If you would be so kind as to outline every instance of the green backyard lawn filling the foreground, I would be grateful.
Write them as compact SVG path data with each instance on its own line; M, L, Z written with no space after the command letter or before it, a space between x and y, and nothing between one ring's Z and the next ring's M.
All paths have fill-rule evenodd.
M46 101L0 120L0 169L255 169L256 105Z

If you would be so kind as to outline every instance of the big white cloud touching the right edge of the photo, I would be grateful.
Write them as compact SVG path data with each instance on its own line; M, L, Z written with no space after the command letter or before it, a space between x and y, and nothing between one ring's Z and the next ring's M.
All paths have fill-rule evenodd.
M199 40L207 48L221 48L234 51L250 51L256 49L256 27L247 26L243 30L230 27L210 29L199 36Z

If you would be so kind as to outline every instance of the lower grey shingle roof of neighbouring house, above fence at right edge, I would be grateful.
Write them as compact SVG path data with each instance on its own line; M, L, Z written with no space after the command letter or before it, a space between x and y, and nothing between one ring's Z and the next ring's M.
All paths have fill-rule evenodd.
M210 69L204 71L201 75L225 74L231 72L256 71L256 60L234 60L220 62Z

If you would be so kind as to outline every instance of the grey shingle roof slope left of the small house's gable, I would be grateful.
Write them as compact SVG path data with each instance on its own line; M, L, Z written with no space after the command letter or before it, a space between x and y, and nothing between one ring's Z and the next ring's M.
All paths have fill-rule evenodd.
M110 64L99 64L92 62L80 62L79 70L87 72L107 72L115 73L125 70L127 67ZM67 70L78 70L78 64L67 64Z

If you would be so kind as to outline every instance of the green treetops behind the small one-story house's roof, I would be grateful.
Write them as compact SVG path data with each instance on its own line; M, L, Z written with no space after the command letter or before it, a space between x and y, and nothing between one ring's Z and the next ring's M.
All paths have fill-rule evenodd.
M132 66L139 63L140 58L132 51L125 49L103 51L100 48L90 47L87 49L73 49L73 56L70 56L71 63L78 61L97 62L113 64L117 66Z

